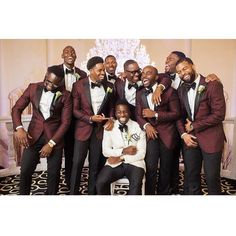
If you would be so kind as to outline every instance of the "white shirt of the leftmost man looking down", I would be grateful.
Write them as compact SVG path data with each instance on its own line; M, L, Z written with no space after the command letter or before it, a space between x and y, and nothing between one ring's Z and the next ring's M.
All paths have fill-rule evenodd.
M52 100L55 93L52 93L51 91L45 92L43 90L42 96L39 102L39 110L43 114L44 119L48 119L50 117L50 107L52 104Z

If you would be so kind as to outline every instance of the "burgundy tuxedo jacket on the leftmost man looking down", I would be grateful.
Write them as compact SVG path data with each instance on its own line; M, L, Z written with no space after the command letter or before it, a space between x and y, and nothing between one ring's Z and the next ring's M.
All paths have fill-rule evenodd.
M50 108L50 117L44 119L39 110L39 102L43 92L43 82L32 83L24 91L23 95L17 100L12 108L13 128L22 125L21 114L23 110L31 102L33 107L32 119L29 124L28 133L32 137L30 144L34 144L42 133L44 133L45 141L52 139L59 148L63 146L63 136L69 128L72 116L72 99L70 92L63 90L61 96L57 97L56 93Z

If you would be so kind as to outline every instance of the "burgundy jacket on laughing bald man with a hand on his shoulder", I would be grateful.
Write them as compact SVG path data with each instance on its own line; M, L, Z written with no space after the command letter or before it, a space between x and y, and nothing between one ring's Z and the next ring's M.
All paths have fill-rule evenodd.
M155 111L158 113L158 118L143 118L142 110L149 108L147 97L145 96L145 88L137 93L136 98L136 115L137 122L143 129L143 126L148 122L158 132L158 138L162 140L165 146L173 149L177 142L178 131L176 121L180 118L180 104L177 91L169 87L162 94L161 104L155 106Z

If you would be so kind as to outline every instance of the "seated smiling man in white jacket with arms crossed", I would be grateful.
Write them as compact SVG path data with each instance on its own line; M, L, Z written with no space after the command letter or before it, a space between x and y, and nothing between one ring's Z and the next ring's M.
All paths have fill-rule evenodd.
M106 164L97 178L97 194L109 195L110 184L123 176L129 180L129 195L141 195L145 174L146 134L130 119L126 101L116 103L117 120L111 131L104 130L102 150Z

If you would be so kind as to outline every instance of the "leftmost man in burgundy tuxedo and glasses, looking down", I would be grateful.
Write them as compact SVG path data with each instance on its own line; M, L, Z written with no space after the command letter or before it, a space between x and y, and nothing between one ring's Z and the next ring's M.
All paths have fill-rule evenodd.
M63 73L49 67L44 82L30 84L12 108L16 140L24 146L20 174L20 194L30 194L32 174L40 157L47 158L47 194L57 194L62 162L63 137L72 115L70 93L61 86ZM21 114L29 103L33 115L28 132L22 126Z

